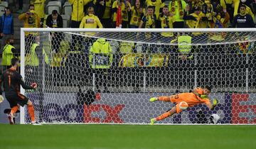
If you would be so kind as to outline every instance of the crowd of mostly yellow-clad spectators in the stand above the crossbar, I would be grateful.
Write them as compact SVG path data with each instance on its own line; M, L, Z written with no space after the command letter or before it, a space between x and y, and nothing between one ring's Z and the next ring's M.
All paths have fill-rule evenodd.
M70 26L66 27L71 28L251 28L254 27L256 8L256 3L252 0L68 0L68 2L72 6L72 12L71 14L65 12L71 16ZM33 26L32 22L29 26L24 26L40 27L38 21L41 21L43 27L46 11L48 14L52 13L49 9L45 10L46 0L33 0L30 6L33 6L32 13L35 13L36 22ZM23 15L29 16L31 10L29 8ZM61 14L63 13L61 10L56 11Z

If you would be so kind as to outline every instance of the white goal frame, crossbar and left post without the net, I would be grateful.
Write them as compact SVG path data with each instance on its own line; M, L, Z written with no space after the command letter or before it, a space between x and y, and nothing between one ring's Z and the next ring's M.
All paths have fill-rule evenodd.
M21 76L25 80L25 32L135 32L135 33L220 33L220 32L256 32L256 28L21 28ZM246 80L248 82L248 79ZM21 87L21 94L25 89ZM20 123L25 124L25 108L20 107Z

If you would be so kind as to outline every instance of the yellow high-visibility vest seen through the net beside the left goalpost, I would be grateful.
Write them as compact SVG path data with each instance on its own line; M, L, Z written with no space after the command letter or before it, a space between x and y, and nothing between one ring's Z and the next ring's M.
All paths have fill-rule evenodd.
M33 45L31 45L30 58L28 59L26 65L30 65L30 66L38 66L39 65L38 55L36 55L37 47L38 47L38 43L33 43ZM43 49L43 55L44 55L46 64L49 64L49 57L46 54L46 51L44 49Z

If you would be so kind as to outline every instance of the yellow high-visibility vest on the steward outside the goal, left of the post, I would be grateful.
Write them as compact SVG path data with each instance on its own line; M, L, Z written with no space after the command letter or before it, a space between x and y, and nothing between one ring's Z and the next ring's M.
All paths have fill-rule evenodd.
M11 51L11 49L13 49L13 48L14 48L14 46L9 45L9 44L6 44L4 46L3 60L2 60L2 65L3 66L10 66L11 65L11 59L14 57L14 53L12 53L12 51Z

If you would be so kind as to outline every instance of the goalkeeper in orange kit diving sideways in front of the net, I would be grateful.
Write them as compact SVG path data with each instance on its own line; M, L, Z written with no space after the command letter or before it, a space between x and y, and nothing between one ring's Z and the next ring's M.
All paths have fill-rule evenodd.
M197 87L196 89L193 89L192 92L174 94L171 96L159 96L149 99L151 102L169 101L176 103L176 106L174 106L171 110L166 111L166 113L161 114L161 116L151 118L151 125L154 125L156 121L160 121L164 118L180 113L182 110L179 108L178 104L181 101L186 101L188 107L195 106L196 104L206 104L209 109L213 109L218 104L218 100L213 99L213 104L210 103L210 99L208 99L208 94L210 94L210 91L211 88L208 86L205 88Z

